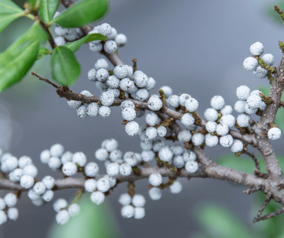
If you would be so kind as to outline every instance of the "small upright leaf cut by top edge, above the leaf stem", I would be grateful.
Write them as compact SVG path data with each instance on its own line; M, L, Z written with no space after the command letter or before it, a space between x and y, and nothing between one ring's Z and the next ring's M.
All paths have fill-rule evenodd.
M44 22L50 22L59 6L60 0L40 0L39 14Z

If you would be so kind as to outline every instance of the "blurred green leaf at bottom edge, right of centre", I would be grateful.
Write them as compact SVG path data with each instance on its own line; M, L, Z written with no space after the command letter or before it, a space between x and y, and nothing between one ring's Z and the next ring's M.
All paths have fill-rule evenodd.
M259 235L252 233L246 225L218 204L202 204L196 212L198 221L210 237L214 238L252 238Z

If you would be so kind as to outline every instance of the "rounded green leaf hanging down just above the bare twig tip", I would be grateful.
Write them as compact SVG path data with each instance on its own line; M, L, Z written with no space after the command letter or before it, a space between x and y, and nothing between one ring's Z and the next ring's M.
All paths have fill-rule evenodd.
M61 85L71 85L79 77L81 66L73 52L64 46L53 49L50 58L51 76Z

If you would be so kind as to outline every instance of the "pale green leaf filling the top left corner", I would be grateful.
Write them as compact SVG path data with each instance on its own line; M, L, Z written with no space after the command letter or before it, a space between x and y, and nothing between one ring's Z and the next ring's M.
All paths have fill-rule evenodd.
M23 9L10 0L0 1L0 33L15 19L24 14Z

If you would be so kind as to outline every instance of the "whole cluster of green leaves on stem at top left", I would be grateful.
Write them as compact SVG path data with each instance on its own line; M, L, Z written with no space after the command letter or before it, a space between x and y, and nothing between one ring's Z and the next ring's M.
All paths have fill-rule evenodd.
M11 0L0 2L0 33L17 18L28 17L32 26L0 53L0 92L19 82L31 69L36 60L50 54L51 75L64 86L72 85L79 78L81 66L74 55L83 43L107 40L98 33L86 35L63 46L54 44L50 27L81 27L101 18L108 10L108 0L81 0L56 18L53 16L60 0L31 0L25 10ZM41 47L49 41L51 48Z

